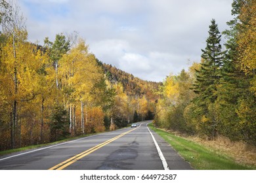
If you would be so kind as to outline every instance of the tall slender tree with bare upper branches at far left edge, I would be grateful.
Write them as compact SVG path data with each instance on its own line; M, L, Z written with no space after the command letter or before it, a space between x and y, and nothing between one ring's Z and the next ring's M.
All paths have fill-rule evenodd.
M3 32L5 33L5 46L3 46L3 57L1 58L1 64L3 64L3 69L5 73L9 73L9 77L12 78L12 82L9 82L11 85L11 106L12 112L10 113L10 129L11 129L11 148L15 146L15 135L18 127L18 99L20 92L20 73L23 71L20 70L20 65L22 65L22 58L26 55L20 55L21 53L26 52L26 46L22 44L26 41L27 32L24 26L24 18L20 12L20 7L14 1L12 4L1 1L1 5L5 7L5 11L1 12L1 23L3 27ZM9 47L7 47L8 45ZM24 48L24 49L23 49ZM24 73L24 72L23 72ZM11 76L10 76L11 75ZM12 88L13 87L13 88ZM10 98L9 98L10 99Z

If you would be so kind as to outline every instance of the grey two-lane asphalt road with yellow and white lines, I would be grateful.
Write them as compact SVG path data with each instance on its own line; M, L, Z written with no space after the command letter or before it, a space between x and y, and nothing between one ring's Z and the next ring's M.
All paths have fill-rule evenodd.
M136 128L129 127L54 146L1 156L0 169L192 169L189 163L154 131L148 129L146 124L148 122L141 122Z

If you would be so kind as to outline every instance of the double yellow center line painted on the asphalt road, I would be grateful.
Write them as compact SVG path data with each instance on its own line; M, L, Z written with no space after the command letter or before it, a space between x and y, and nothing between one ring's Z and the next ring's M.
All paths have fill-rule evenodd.
M137 129L137 128L135 128L135 129ZM75 163L79 159L91 154L92 152L95 152L95 150L98 150L99 148L106 146L106 144L109 144L110 142L116 141L116 139L123 137L123 135L126 135L127 133L130 133L131 131L133 131L135 129L131 129L129 131L126 131L125 133L121 133L120 135L117 135L116 137L114 137L108 141L98 144L97 146L94 146L93 148L90 148L89 150L85 150L84 152L81 152L80 154L77 154L77 155L73 156L72 158L67 159L66 161L63 161L62 163L59 163L58 165L51 167L51 169L49 169L49 170L62 170L64 168L68 167L69 165L71 165L72 163Z

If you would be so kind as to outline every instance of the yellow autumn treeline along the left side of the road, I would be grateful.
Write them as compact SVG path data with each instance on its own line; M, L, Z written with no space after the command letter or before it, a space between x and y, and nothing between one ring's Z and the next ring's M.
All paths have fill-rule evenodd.
M112 71L77 33L60 33L54 41L47 37L43 46L33 44L18 5L1 0L0 8L0 150L153 118L150 84L140 81L136 95L130 95L122 76L115 74L113 82Z

